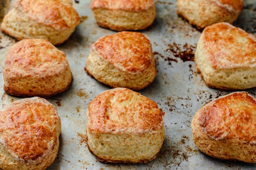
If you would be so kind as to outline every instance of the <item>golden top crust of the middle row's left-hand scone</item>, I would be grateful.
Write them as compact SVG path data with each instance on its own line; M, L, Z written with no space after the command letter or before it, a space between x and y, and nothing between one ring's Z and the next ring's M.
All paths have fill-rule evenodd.
M14 44L5 59L4 72L10 75L45 77L67 68L65 54L47 40L26 39Z

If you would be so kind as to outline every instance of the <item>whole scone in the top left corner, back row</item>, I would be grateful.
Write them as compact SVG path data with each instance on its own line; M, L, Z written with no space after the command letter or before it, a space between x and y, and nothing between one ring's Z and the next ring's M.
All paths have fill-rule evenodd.
M17 40L40 38L58 45L70 37L79 22L72 0L16 0L1 29Z

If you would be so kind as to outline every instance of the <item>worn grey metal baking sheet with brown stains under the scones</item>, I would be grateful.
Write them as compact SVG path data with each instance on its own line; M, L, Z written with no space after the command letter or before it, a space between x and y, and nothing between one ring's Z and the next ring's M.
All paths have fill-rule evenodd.
M50 99L61 117L58 156L49 170L253 170L252 164L211 158L198 151L192 141L191 120L207 102L230 93L207 88L197 73L193 53L200 31L176 14L175 0L157 0L157 17L150 28L141 31L153 45L157 77L142 95L157 102L165 114L165 140L157 158L147 164L101 163L89 152L85 142L86 108L102 91L110 89L84 71L90 46L98 38L116 33L97 26L90 10L90 0L76 0L74 8L81 16L69 40L58 46L65 52L73 73L72 86ZM0 22L10 9L11 0L0 0ZM244 0L244 9L234 23L256 35L256 1ZM0 109L19 99L4 93L2 71L5 54L16 40L0 33ZM256 90L249 93L256 96Z

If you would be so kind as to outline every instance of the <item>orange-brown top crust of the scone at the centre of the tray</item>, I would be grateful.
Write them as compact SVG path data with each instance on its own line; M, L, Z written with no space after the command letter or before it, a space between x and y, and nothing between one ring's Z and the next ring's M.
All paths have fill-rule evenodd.
M152 64L153 53L146 35L122 31L92 44L92 50L121 71L143 72Z

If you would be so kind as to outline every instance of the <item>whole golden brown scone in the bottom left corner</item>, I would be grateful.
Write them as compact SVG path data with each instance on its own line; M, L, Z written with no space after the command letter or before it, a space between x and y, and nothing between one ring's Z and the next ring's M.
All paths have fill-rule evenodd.
M21 99L0 111L0 169L45 170L56 158L61 119L40 97Z

